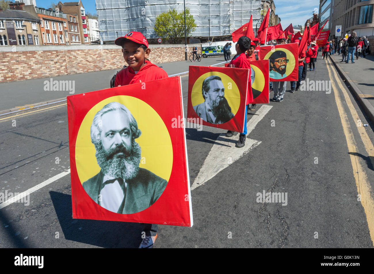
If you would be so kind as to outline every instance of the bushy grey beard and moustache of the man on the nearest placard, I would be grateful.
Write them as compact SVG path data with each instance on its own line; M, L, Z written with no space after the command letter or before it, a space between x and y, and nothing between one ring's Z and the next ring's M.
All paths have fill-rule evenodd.
M141 160L141 148L135 140L132 140L131 150L119 145L110 149L110 151L105 151L100 141L95 144L95 148L97 163L104 174L115 178L120 177L125 181L137 176ZM116 155L120 152L123 154Z

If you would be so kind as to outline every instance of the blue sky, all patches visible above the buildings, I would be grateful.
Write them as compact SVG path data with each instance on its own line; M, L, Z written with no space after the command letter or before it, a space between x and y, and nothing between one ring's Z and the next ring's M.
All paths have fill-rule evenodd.
M67 0L70 2L73 0ZM51 3L58 3L52 0L36 0L37 6L47 8ZM64 3L65 1L62 1ZM86 12L96 14L95 0L83 0ZM274 0L275 12L281 18L283 28L289 24L304 25L307 19L313 17L313 12L319 10L319 0Z

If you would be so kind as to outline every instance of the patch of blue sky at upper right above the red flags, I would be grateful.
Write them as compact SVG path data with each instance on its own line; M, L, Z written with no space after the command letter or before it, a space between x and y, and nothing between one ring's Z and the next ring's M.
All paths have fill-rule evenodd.
M274 0L275 13L281 18L283 29L292 25L303 25L319 11L319 0Z

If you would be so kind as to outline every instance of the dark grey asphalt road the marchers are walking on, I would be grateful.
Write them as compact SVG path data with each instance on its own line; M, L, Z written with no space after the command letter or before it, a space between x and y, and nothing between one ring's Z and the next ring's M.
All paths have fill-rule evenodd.
M270 102L248 135L261 143L191 191L193 227L160 225L155 248L373 247L373 128L358 122L368 123L332 63L316 65L307 78L331 80L331 93L292 94L288 85L285 100ZM188 76L181 79L187 111ZM191 185L223 132L186 129ZM0 116L0 191L24 192L69 169L68 146L64 103ZM287 193L287 205L257 202L263 190ZM73 220L70 174L33 192L29 202L0 209L1 248L118 248L141 241L141 224Z

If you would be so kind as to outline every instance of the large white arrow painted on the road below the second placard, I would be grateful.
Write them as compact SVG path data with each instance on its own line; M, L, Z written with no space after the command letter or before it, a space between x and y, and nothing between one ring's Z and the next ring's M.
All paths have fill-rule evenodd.
M257 123L264 118L271 108L271 105L262 105L255 113L257 115L254 115L247 122L247 136L256 127ZM191 190L203 185L205 182L217 175L218 172L226 169L226 167L230 166L230 164L234 163L243 155L247 154L253 148L261 144L261 141L247 138L243 148L236 148L235 144L238 136L228 138L225 135L226 134L221 134L218 136L199 173L197 174L193 185L191 186Z

